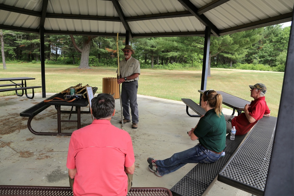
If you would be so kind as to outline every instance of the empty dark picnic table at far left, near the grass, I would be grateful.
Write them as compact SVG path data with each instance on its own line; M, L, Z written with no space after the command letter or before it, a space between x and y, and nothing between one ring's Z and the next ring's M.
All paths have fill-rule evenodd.
M23 96L25 91L26 97L29 99L32 99L34 98L34 88L41 88L41 86L26 86L27 80L35 80L35 78L30 78L30 77L0 78L0 82L4 82L4 81L11 82L9 84L0 84L0 87L15 86L14 88L2 88L0 89L0 92L15 91L17 96ZM21 81L21 83L16 83L14 81ZM28 96L27 89L33 90L33 95L31 97ZM17 91L19 90L22 91L21 94L17 93Z

